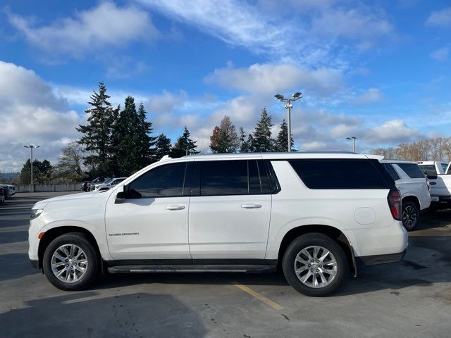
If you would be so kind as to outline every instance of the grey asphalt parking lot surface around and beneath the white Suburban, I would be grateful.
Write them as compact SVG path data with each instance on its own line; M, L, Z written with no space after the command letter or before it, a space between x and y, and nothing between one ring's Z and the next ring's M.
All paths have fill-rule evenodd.
M63 292L31 268L30 208L0 205L0 337L451 337L451 211L425 216L404 260L310 298L280 274L109 275Z

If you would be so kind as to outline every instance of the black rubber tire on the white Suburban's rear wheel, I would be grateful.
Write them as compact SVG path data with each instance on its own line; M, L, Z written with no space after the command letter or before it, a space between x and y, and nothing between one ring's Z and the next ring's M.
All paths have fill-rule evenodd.
M337 262L336 275L330 284L324 287L309 287L302 283L295 273L295 258L297 254L309 246L322 246L335 256L335 261ZM319 266L321 267L321 265ZM337 242L326 234L312 232L303 234L291 242L283 255L282 269L288 283L298 292L307 296L328 296L336 292L345 282L349 267L345 252ZM328 278L330 279L330 276Z

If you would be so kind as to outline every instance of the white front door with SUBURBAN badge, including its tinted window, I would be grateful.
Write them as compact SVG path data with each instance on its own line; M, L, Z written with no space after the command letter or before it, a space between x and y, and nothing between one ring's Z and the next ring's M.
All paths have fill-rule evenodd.
M158 165L125 186L123 203L115 204L116 193L111 196L105 222L109 251L115 260L191 260L190 189L185 182L190 165Z

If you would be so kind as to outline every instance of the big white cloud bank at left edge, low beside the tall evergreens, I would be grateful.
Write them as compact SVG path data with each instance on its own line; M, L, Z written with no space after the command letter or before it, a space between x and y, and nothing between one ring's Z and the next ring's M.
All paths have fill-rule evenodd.
M40 144L35 156L56 161L83 118L32 70L0 61L0 79L0 170L20 170L30 156L24 144Z

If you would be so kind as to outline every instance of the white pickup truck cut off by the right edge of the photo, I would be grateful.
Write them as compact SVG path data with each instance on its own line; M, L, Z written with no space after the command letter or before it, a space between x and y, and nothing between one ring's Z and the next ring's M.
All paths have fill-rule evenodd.
M431 184L431 209L451 208L451 163L420 161L418 165Z

